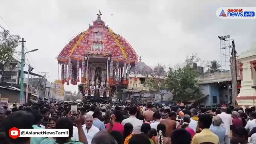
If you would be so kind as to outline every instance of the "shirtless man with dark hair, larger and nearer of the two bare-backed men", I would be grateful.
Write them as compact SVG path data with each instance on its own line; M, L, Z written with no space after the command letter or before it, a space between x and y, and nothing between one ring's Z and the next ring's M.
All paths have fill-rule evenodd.
M170 112L169 113L169 117L166 119L162 119L160 120L160 124L164 124L166 126L166 137L170 138L171 137L171 133L173 130L176 129L176 121L174 119L176 119L177 114L175 112Z

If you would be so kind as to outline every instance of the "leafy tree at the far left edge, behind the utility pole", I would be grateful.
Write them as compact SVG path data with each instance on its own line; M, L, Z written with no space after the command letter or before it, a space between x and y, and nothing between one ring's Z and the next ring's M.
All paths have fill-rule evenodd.
M4 83L4 65L13 60L13 54L19 45L20 36L9 35L8 30L0 32L0 74L1 83Z

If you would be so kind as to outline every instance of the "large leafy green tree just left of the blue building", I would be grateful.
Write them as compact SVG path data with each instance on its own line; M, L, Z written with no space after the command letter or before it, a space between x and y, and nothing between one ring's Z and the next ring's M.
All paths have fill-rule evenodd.
M176 69L169 68L165 84L167 90L172 91L174 101L187 102L201 97L202 94L196 79L198 74L193 69L193 63L198 60L199 58L194 54L187 57L182 66L178 66Z

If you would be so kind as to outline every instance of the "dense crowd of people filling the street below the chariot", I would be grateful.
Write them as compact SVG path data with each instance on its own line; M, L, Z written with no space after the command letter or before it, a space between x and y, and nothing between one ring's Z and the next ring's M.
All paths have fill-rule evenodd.
M74 118L71 106L77 106ZM17 138L19 129L68 129L68 137ZM255 107L48 102L0 107L3 144L256 144Z

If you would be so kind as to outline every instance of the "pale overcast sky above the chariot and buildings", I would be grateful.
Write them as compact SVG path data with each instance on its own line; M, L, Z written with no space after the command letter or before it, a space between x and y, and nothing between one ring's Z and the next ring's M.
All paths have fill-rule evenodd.
M106 25L149 66L173 66L192 54L204 63L220 61L218 36L224 35L234 38L238 54L249 50L256 41L256 20L220 19L215 13L223 6L256 6L256 1L0 0L0 16L12 34L25 39L28 51L39 49L28 54L33 72L49 72L47 79L54 81L58 79L56 56L70 38L92 25L99 10ZM9 29L3 20L0 25ZM77 86L65 90L77 91Z

